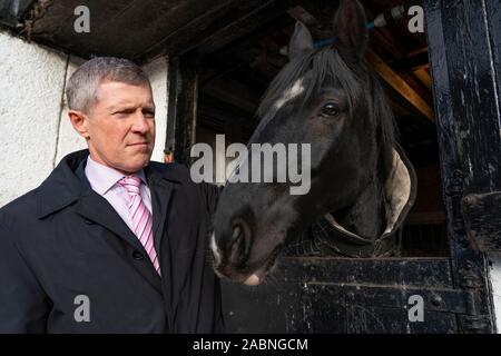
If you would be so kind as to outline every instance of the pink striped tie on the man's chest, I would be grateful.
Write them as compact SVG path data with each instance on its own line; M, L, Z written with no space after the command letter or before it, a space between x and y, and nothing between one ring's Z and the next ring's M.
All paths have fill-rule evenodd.
M118 184L127 189L129 195L129 211L132 218L134 233L146 249L155 269L160 275L160 265L155 251L153 239L153 218L141 199L139 177L132 175L121 178Z

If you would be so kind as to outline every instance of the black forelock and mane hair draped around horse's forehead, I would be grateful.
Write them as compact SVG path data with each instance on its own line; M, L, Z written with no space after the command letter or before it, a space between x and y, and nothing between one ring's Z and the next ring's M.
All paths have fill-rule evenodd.
M346 93L351 113L354 112L357 100L366 96L370 101L369 110L373 112L377 145L383 149L383 156L387 157L394 146L395 129L393 113L380 80L364 61L348 67L332 47L305 50L282 69L269 85L257 109L261 122L254 135L257 136L275 117L277 100L306 73L311 76L311 80L303 81L304 92L299 106L304 106L308 98L318 92L326 80L338 85ZM387 164L385 162L385 166Z

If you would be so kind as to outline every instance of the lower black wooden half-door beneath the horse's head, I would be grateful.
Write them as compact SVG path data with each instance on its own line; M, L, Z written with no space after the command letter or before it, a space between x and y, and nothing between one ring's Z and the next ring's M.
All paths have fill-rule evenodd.
M468 309L448 258L287 257L264 285L223 290L233 333L444 334Z

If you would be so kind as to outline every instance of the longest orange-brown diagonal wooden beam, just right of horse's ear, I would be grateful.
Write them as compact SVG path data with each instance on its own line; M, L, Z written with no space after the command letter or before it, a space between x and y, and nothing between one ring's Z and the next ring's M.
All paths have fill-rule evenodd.
M390 68L376 53L369 50L366 59L374 67L381 78L396 90L412 107L418 109L426 119L434 121L434 112L428 102L420 97L405 80Z

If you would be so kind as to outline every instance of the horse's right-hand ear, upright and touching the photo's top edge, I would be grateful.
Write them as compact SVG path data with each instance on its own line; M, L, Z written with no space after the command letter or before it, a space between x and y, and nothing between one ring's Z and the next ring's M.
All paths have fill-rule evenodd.
M358 61L365 53L369 32L365 11L357 0L341 0L334 17L334 36L345 60Z

